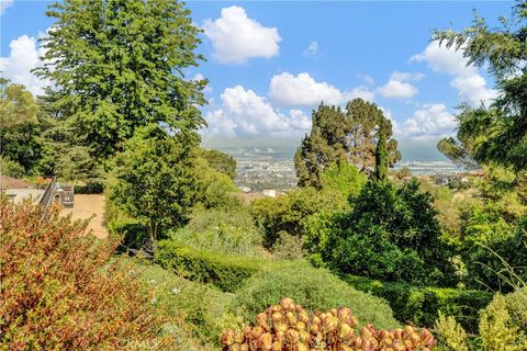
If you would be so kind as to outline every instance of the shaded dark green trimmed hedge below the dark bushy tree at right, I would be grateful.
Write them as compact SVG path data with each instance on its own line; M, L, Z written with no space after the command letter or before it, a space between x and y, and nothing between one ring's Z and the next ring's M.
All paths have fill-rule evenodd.
M441 312L456 317L467 331L476 332L480 310L493 297L492 293L473 290L416 287L355 275L341 275L340 279L355 288L386 299L400 321L419 327L433 327L438 312Z

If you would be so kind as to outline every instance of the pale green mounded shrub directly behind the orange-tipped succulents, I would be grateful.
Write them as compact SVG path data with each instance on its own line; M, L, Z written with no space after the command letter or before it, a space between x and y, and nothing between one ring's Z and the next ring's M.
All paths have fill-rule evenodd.
M253 319L284 296L307 310L347 306L363 322L373 322L380 328L399 325L384 301L357 291L329 271L307 263L264 269L236 292L233 310Z

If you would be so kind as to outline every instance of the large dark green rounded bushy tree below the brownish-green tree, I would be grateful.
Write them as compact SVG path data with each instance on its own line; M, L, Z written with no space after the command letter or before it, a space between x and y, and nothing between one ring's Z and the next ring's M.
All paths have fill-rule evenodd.
M414 284L452 284L449 248L428 193L370 181L352 211L311 223L311 253L341 273ZM318 234L318 235L317 235Z

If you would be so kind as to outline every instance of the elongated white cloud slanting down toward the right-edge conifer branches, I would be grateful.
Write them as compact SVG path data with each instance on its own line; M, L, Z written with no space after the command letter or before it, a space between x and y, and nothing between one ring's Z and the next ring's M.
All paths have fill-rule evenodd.
M461 101L476 106L482 102L489 104L497 97L497 91L486 87L485 79L474 66L467 66L462 49L439 46L431 42L421 54L411 57L411 61L425 61L433 70L453 76L450 84L458 90Z

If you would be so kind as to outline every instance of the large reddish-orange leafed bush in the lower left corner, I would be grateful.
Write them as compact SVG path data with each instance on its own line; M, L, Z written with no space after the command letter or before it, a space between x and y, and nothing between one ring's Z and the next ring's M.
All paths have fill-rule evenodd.
M115 242L52 208L0 199L0 349L115 350L156 337L160 321Z

